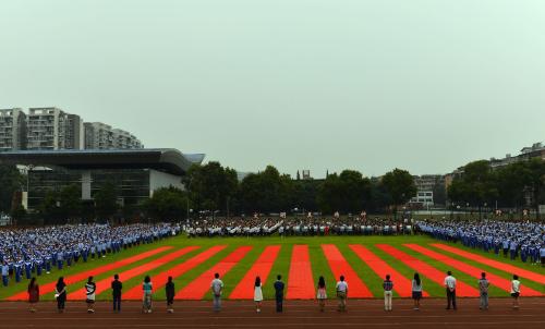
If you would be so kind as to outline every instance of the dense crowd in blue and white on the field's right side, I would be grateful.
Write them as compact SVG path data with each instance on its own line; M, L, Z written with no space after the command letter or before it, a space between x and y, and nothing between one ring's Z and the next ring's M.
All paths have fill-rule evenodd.
M485 220L462 221L416 221L416 230L435 239L461 242L463 245L485 252L500 252L505 257L545 266L545 223L509 222Z

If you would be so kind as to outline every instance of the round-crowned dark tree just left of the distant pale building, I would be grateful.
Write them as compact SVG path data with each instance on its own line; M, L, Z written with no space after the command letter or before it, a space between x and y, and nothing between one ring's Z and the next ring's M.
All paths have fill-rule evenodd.
M399 205L403 205L416 195L416 185L413 176L407 170L393 169L387 172L382 180L393 206L393 216L397 218Z

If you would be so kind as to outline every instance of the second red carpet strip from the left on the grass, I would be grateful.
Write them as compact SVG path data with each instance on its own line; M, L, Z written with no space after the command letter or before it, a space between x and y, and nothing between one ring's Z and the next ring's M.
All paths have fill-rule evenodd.
M187 246L187 247L181 248L179 251L175 251L173 253L167 254L162 257L150 260L149 263L146 263L146 264L141 265L138 267L120 272L119 279L121 280L121 282L123 282L123 281L126 281L131 278L136 277L136 276L145 275L148 271L153 270L154 268L158 268L159 266L168 264L168 263L174 260L175 258L182 257L183 255L185 255L190 252L193 252L194 249L197 249L197 248L199 248L199 247ZM144 279L144 278L142 278L142 279ZM110 289L111 281L112 281L112 278L108 278L108 279L104 279L104 280L96 282L97 289L96 289L95 293L98 295L101 292L106 291L107 289ZM69 287L69 289L71 287ZM69 301L84 301L85 300L85 290L84 290L83 284L81 288L76 288L76 291L69 293L68 300Z

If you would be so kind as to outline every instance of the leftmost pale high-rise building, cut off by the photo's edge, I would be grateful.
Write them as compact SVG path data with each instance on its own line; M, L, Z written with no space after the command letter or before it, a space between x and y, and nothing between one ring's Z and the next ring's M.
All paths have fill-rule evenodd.
M20 108L0 109L0 151L26 148L26 114Z

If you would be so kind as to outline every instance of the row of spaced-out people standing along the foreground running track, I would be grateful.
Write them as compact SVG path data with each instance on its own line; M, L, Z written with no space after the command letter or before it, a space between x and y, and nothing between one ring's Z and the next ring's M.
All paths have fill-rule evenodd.
M252 283L249 283L252 284ZM491 282L486 278L486 272L481 273L481 278L476 280L476 288L480 292L479 298L479 308L482 310L487 310L489 307L488 304L488 288ZM512 297L512 308L519 309L519 297L521 293L520 281L517 275L512 276L511 280L511 290L510 295ZM276 312L283 312L283 301L284 301L284 288L286 284L282 281L282 277L280 275L277 276L276 281L272 283L275 289L275 304ZM452 276L451 271L447 272L447 276L444 280L444 287L446 290L447 296L447 307L446 309L458 309L457 301L456 301L456 289L457 289L457 280ZM213 310L218 313L221 310L221 297L223 294L223 281L221 281L219 273L214 275L214 279L210 282L210 293L213 296ZM262 303L263 303L263 282L259 277L255 278L253 283L254 288L254 297L255 302L255 312L262 312ZM382 288L384 290L384 310L391 312L392 307L392 291L395 288L395 282L391 280L389 275L386 275L385 280L383 281ZM83 285L85 290L85 302L87 304L87 313L95 313L95 292L96 292L96 283L94 282L94 278L89 277L87 282ZM121 301L122 301L122 290L123 283L120 281L119 275L113 276L113 280L111 281L111 295L113 303L113 313L121 312ZM414 310L420 310L422 292L423 292L423 282L417 272L414 273L412 283L412 300L414 302ZM347 282L344 276L339 277L339 281L335 284L336 298L337 298L337 310L340 313L347 312L347 305L349 300L349 283ZM39 302L39 285L37 283L36 278L32 278L28 284L28 302L29 302L29 310L37 310L37 303ZM168 281L165 284L165 293L167 296L167 312L173 313L173 304L174 304L174 294L175 287L172 281L172 277L168 278ZM154 295L154 285L152 282L152 278L146 276L142 283L142 313L148 314L153 312L153 295ZM57 309L59 313L64 313L65 302L66 302L66 283L64 282L63 277L60 277L57 281L55 288L55 297L57 300ZM318 302L318 310L325 312L326 302L327 302L327 288L326 281L323 276L318 279L318 284L316 287L316 300Z

